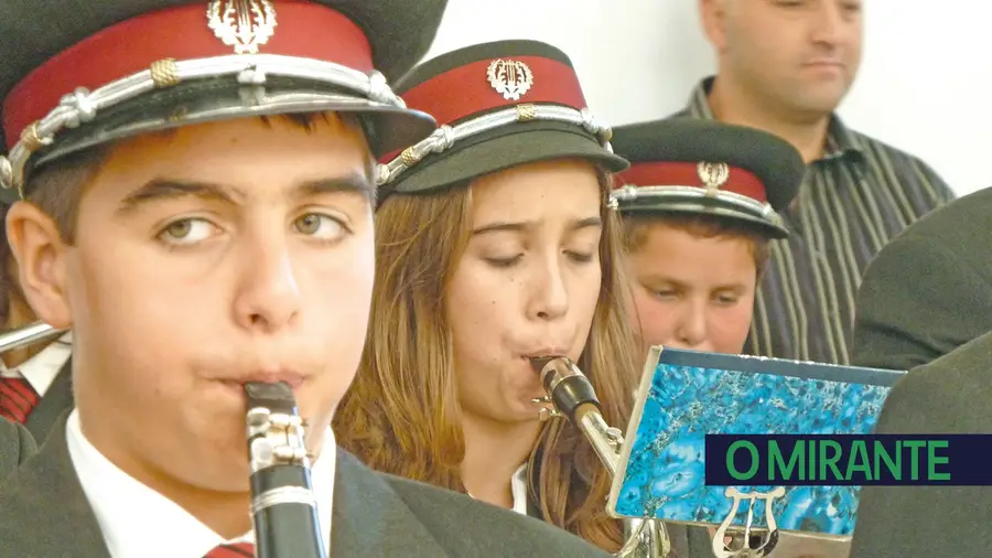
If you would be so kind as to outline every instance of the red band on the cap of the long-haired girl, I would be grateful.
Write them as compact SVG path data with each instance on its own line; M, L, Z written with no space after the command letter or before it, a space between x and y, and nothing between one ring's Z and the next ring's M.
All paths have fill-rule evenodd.
M402 95L407 106L432 115L438 124L452 124L478 112L526 103L554 103L585 108L579 76L568 64L542 56L513 56L533 76L530 89L519 99L507 99L489 84L492 60L473 62L439 74Z

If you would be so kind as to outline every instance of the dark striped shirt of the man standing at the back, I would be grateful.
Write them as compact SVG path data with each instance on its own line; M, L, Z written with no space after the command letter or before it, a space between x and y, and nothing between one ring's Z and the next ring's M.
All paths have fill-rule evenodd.
M712 119L712 83L703 79L675 116ZM926 163L832 116L824 155L808 165L781 214L789 238L772 242L745 352L849 364L854 297L865 267L910 223L953 198Z

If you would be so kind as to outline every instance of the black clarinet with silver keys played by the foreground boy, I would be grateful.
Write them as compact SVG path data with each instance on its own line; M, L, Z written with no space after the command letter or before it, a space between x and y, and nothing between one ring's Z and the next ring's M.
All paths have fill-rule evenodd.
M251 521L258 558L326 558L303 443L303 419L289 384L245 384Z

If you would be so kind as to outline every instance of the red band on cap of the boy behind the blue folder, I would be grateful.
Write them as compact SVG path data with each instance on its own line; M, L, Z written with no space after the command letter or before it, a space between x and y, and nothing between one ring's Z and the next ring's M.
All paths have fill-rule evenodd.
M698 163L686 162L633 163L629 169L616 175L615 185L707 187L698 169ZM745 195L761 203L768 201L765 196L765 184L752 172L740 167L730 167L726 182L720 185L720 190Z

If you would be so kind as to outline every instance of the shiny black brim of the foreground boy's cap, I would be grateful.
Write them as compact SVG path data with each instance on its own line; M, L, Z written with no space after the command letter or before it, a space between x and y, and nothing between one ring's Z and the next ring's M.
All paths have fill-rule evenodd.
M265 88L230 79L201 79L142 95L104 109L93 121L60 133L33 158L33 165L141 133L192 124L308 112L346 112L365 125L376 157L417 142L436 127L429 115L370 101L354 94L293 79L272 79Z

